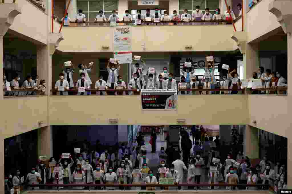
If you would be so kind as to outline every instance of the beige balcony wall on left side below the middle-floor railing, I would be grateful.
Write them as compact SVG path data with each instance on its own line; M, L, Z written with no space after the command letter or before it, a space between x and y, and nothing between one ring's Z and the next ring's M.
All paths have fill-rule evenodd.
M4 131L2 138L8 138L48 125L48 97L6 97L1 100L1 108L5 110ZM39 121L44 124L39 125Z

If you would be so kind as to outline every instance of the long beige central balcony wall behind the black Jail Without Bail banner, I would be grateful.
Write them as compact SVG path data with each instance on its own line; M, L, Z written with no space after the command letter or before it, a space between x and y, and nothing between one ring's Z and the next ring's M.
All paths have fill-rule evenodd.
M72 106L81 101L82 108ZM182 118L187 125L248 123L246 95L179 96L177 111L142 111L141 106L141 96L51 96L50 124L100 125L109 124L110 118L118 118L119 125L177 124ZM74 116L67 114L68 107Z

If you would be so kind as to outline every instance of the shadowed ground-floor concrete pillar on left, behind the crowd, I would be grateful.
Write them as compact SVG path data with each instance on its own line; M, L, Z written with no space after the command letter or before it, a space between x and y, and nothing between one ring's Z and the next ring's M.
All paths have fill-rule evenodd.
M53 157L53 129L46 126L37 129L38 131L38 156Z

